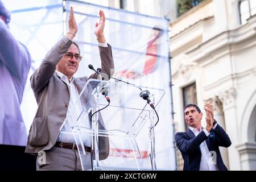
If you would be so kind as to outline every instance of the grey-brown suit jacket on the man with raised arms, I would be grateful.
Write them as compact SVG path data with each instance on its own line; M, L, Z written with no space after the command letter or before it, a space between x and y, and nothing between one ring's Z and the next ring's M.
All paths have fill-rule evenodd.
M67 115L69 104L68 86L57 76L56 65L61 57L68 51L72 41L63 37L47 53L42 64L30 78L31 88L34 92L38 110L27 139L27 153L38 153L39 151L49 150L52 148L60 134L60 127ZM111 46L99 47L101 57L102 72L110 75L110 69L114 69ZM97 73L89 78L97 78ZM77 86L79 93L86 84L88 77L75 78L74 84ZM86 102L86 101L85 101ZM102 118L100 118L102 119ZM99 127L103 122L99 122ZM100 137L100 160L109 155L108 137Z

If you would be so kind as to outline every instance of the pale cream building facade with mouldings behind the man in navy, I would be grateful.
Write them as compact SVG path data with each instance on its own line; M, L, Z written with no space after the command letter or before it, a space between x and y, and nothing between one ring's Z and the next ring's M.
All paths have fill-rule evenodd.
M200 107L214 96L223 102L226 132L232 140L229 169L255 170L256 17L241 25L237 0L209 3L212 18L189 22L191 27L171 38L177 131L184 130L181 89L196 81Z

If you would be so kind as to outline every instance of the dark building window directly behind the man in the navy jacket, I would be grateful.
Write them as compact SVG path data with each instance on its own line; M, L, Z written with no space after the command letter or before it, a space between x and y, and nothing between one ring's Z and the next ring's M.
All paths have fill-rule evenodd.
M196 83L185 86L182 89L183 92L183 108L188 104L197 105L197 96L196 96ZM184 112L183 112L184 114ZM185 118L185 117L184 117ZM185 119L184 119L185 122ZM187 123L185 122L185 130L188 129Z

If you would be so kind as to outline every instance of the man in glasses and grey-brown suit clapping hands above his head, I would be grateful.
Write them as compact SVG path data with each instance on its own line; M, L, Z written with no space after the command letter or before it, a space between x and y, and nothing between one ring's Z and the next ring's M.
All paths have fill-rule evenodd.
M96 23L94 33L97 36L100 49L101 72L112 76L111 73L114 72L112 49L104 38L105 15L102 10L99 14L100 22ZM30 127L26 152L38 154L37 170L82 169L73 137L67 137L60 133L60 127L63 125L67 113L71 111L71 107L79 98L86 81L89 78L97 78L98 75L94 73L89 78L73 77L79 68L82 57L79 46L72 42L77 33L77 24L72 7L68 24L67 36L64 36L51 48L30 79L38 103L38 110ZM99 122L99 127L104 127L102 121ZM69 131L70 129L64 127L63 130ZM99 143L100 160L106 159L109 155L108 137L100 137ZM85 140L86 154L90 154L90 146L91 141L88 137ZM40 156L41 154L43 156ZM90 156L86 155L86 167L84 169L91 169Z

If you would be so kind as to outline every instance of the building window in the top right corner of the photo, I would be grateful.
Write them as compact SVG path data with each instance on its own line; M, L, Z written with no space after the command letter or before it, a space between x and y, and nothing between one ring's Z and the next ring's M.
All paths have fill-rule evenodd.
M256 1L255 0L242 0L239 4L240 21L245 24L250 16L256 14Z

